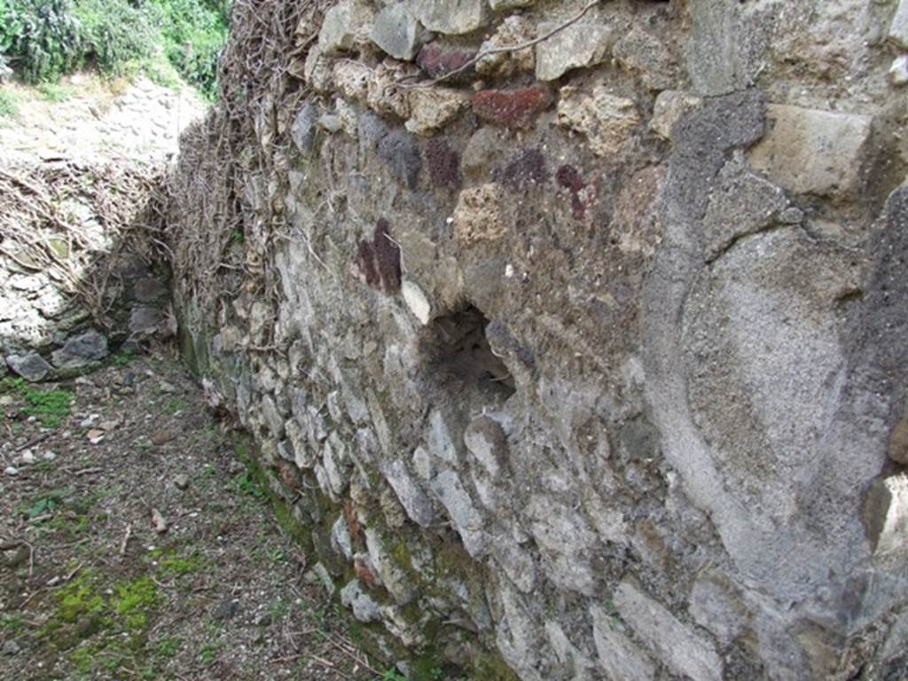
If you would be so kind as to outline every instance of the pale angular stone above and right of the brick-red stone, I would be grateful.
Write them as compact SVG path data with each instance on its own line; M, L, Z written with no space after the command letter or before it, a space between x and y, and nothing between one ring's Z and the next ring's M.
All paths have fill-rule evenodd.
M539 25L539 35L547 35L558 22ZM575 68L602 62L615 43L611 26L578 21L536 45L536 77L553 81Z

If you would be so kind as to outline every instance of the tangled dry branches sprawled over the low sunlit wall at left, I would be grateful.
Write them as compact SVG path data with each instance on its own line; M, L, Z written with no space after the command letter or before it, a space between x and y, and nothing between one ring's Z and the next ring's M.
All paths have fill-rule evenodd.
M0 168L0 258L44 272L106 327L119 282L102 265L126 249L163 260L160 187L159 171L135 163Z

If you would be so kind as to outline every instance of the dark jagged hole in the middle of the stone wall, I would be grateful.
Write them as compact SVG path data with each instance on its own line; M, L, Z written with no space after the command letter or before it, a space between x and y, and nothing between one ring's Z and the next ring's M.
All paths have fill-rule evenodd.
M464 400L503 402L513 395L514 379L489 347L487 326L489 320L472 304L432 320L419 342L427 378Z

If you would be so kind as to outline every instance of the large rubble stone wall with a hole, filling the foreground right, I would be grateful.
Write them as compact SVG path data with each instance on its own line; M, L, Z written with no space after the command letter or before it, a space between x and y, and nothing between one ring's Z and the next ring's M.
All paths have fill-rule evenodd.
M906 22L235 10L290 42L209 122L252 131L230 211L174 210L221 244L178 257L184 349L411 676L908 674Z

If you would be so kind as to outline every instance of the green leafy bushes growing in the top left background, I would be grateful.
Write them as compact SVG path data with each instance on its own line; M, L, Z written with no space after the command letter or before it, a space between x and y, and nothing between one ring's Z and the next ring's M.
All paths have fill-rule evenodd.
M230 0L0 0L0 58L29 83L91 66L173 84L175 71L214 99L229 17Z

